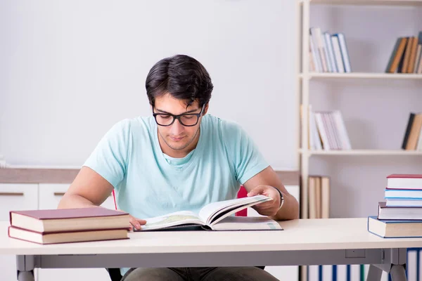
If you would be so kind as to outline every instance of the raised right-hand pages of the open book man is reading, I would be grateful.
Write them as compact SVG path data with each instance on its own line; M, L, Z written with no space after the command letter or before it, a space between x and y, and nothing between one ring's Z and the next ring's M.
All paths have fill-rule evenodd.
M264 195L256 195L252 197L243 197L243 198L237 198L233 200L212 202L210 204L207 204L202 209L200 209L199 217L207 225L210 225L213 222L213 218L219 215L221 215L222 218L224 218L226 216L230 216L231 214L234 214L236 211L240 211L241 209L245 209L247 207L250 207L255 204L259 204L261 202L265 202L268 200L272 200L272 199Z

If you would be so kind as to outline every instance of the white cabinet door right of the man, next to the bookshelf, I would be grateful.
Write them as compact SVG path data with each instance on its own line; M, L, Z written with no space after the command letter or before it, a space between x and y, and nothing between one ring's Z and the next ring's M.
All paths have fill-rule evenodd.
M287 192L300 202L298 185L285 185ZM255 209L248 208L248 216L261 216ZM266 266L265 270L279 280L299 280L299 266Z

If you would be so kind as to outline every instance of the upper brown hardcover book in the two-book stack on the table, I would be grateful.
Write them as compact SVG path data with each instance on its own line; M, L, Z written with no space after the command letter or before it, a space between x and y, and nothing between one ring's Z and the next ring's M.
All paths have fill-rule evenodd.
M102 207L10 211L11 226L39 233L129 228L129 214Z

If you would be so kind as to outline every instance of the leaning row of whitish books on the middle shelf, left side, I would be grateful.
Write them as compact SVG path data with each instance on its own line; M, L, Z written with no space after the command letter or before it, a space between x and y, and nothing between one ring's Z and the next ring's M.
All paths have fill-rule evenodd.
M350 138L340 110L312 111L309 105L308 148L310 150L350 150Z

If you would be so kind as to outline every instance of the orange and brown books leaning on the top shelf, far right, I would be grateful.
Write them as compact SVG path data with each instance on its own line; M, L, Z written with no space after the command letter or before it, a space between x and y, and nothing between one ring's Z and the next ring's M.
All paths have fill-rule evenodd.
M422 74L422 31L417 37L397 38L385 72Z

